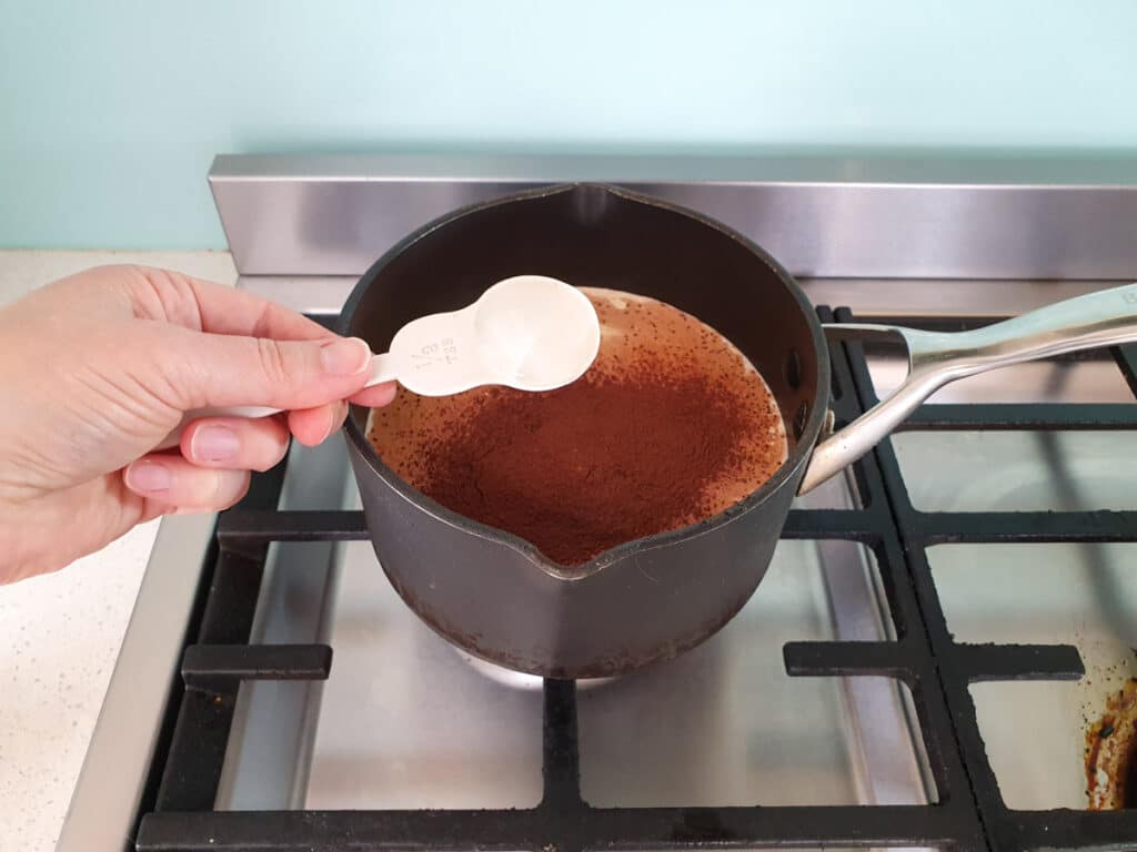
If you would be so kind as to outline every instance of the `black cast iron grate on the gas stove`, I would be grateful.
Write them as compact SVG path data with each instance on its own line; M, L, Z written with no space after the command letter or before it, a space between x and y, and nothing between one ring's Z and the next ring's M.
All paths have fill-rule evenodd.
M835 317L820 311L822 319ZM850 321L838 310L837 321ZM835 414L875 402L860 345L832 346ZM1137 350L1113 351L1137 393ZM907 429L1137 429L1134 404L927 406ZM1137 511L921 512L890 442L856 466L863 508L795 510L783 537L846 540L877 558L896 629L889 642L797 642L786 668L804 677L887 676L913 703L938 799L918 805L613 808L580 793L576 696L547 680L541 803L529 810L216 812L214 800L238 687L249 679L323 679L331 649L249 645L274 541L366 538L362 512L277 511L283 471L256 477L223 515L207 557L198 616L138 827L144 852L300 850L694 850L763 846L939 846L960 850L1137 849L1137 811L1015 811L1003 803L968 686L980 680L1077 679L1069 645L976 645L948 632L926 548L948 542L1132 542ZM761 593L761 592L760 592Z

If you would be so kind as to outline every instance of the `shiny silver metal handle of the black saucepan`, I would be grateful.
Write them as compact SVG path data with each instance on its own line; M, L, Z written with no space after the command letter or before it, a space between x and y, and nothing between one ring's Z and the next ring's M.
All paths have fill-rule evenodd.
M860 459L949 382L1021 361L1137 341L1137 284L1080 295L970 332L843 323L824 328L830 340L902 339L908 348L908 375L888 399L814 448L799 494Z

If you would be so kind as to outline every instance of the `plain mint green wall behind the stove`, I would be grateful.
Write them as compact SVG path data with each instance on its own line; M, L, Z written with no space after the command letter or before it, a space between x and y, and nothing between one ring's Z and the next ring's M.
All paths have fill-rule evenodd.
M218 247L217 152L1137 151L1137 0L0 0L0 245Z

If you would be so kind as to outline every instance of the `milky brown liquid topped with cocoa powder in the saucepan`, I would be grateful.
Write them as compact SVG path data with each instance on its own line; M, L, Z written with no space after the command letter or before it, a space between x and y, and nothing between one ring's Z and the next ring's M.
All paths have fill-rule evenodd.
M711 517L786 458L770 391L716 332L662 302L587 292L605 335L583 378L547 393L400 391L371 429L412 485L564 565Z

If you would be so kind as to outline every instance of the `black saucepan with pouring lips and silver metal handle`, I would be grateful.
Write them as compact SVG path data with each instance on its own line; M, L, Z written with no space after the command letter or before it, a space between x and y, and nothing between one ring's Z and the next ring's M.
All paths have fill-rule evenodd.
M382 352L409 320L458 309L518 274L637 293L694 315L762 373L789 440L781 468L727 511L565 566L412 487L368 442L367 410L354 408L346 425L351 463L375 552L399 595L464 651L550 678L620 675L714 634L762 580L794 496L854 462L944 384L1137 339L1137 284L956 334L823 327L792 276L747 237L594 184L509 195L426 225L364 274L340 331ZM898 336L910 358L901 387L836 433L827 333ZM634 500L629 493L629 504Z

